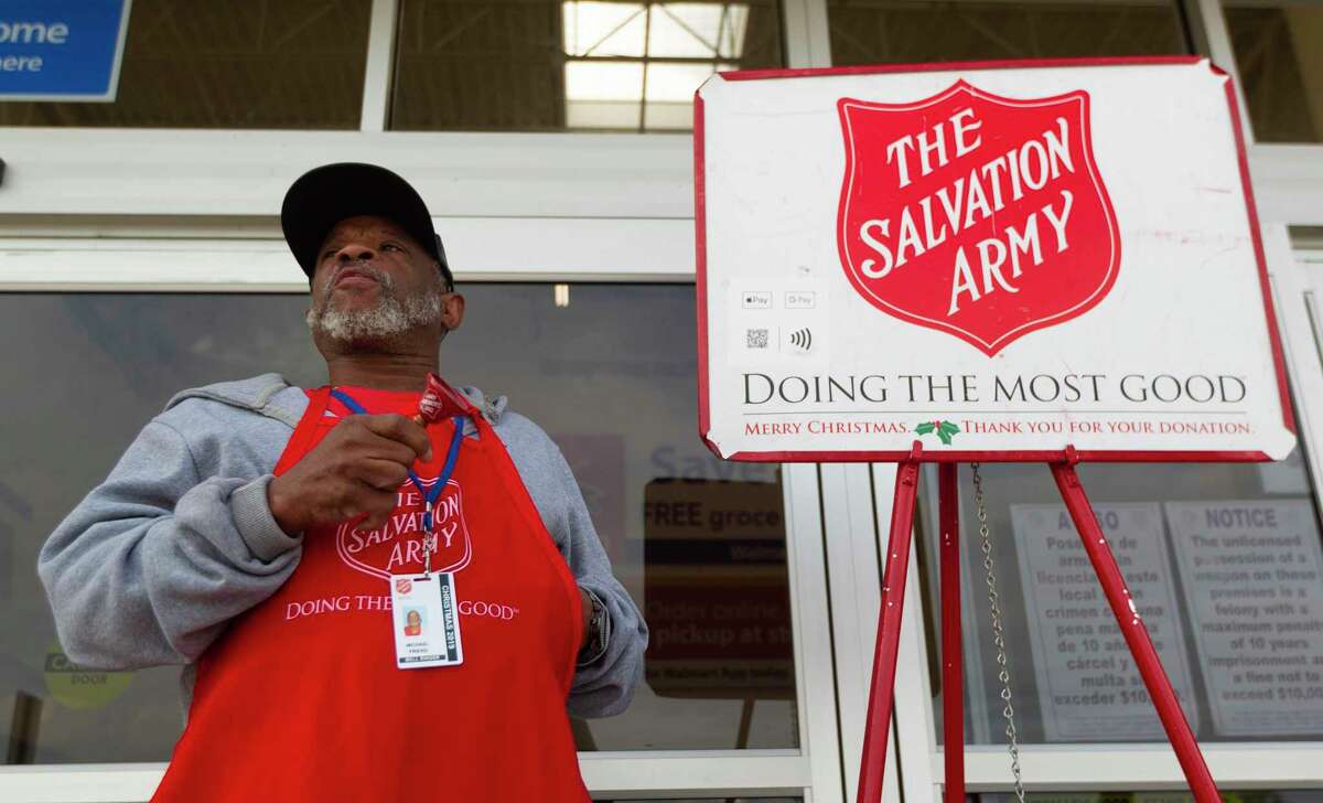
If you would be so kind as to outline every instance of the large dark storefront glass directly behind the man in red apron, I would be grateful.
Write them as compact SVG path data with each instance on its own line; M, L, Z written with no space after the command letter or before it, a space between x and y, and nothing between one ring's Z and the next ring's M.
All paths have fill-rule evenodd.
M615 574L652 624L648 677L583 750L795 747L775 466L697 437L692 286L463 288L442 348L460 384L507 394L569 459ZM81 672L36 577L46 534L177 390L279 370L325 381L299 295L0 295L0 743L9 763L167 761L177 668ZM40 380L37 378L40 377Z

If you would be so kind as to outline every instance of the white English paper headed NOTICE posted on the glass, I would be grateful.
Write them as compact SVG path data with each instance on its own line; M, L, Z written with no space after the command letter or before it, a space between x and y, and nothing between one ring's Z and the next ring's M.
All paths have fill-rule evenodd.
M1323 556L1299 500L1167 504L1221 736L1323 733Z

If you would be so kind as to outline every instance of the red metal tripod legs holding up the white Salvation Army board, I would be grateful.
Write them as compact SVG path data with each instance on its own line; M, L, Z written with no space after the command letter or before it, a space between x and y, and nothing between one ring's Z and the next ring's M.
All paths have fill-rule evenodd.
M1073 454L1068 450L1068 455ZM900 646L901 610L905 599L905 573L909 569L910 540L914 524L914 497L918 487L919 444L910 458L897 467L892 525L882 571L881 610L877 616L877 648L873 654L873 681L868 696L868 718L864 726L864 755L859 771L856 803L878 803L882 798L882 773L886 766L886 738L890 730L896 684L896 655ZM1180 709L1176 692L1162 668L1130 589L1117 565L1107 538L1089 504L1089 497L1076 475L1073 460L1052 464L1052 476L1061 499L1070 512L1080 538L1102 590L1117 616L1135 665L1143 676L1167 738L1176 751L1185 781L1196 803L1220 803L1204 755ZM946 762L946 803L964 800L964 685L960 651L960 569L959 569L959 497L957 464L938 467L942 579L942 688L943 743Z

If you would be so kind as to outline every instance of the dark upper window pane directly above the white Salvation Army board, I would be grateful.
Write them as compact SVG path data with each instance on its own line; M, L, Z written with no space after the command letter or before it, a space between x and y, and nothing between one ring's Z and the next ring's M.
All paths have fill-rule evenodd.
M827 0L832 63L1187 53L1174 0Z

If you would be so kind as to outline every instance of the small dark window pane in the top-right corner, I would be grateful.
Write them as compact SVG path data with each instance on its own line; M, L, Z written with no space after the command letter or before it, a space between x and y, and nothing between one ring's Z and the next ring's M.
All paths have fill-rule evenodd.
M1323 7L1314 1L1224 4L1261 142L1323 142Z

